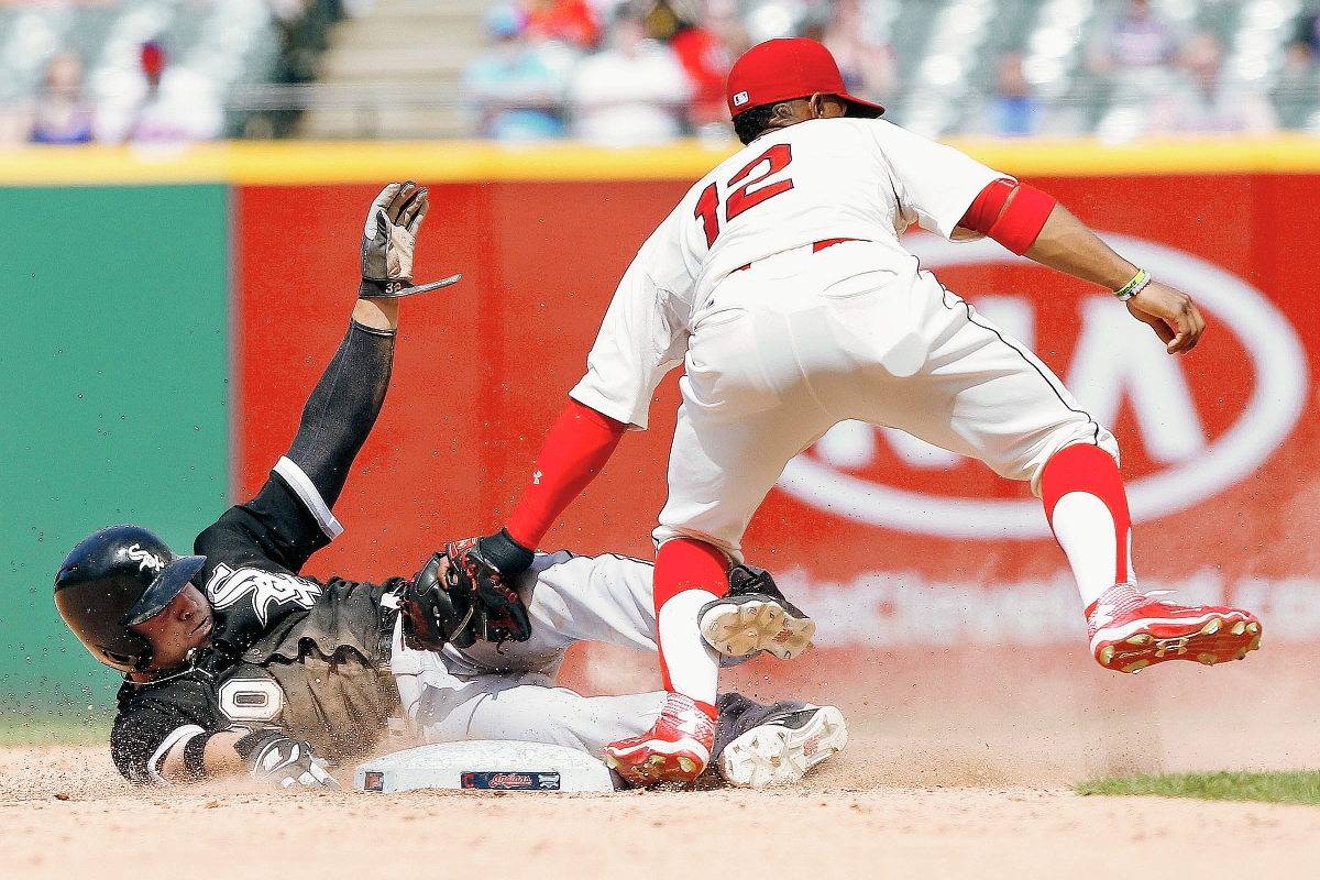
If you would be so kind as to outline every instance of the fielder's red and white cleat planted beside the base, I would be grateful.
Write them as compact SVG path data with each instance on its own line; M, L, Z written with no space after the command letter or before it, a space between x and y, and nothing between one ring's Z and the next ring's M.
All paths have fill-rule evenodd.
M669 694L655 726L606 745L605 763L630 785L690 784L706 769L714 743L715 720L689 697Z

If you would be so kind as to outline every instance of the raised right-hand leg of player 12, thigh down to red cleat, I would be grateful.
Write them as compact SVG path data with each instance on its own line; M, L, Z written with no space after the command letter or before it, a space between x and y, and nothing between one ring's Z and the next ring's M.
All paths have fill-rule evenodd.
M1254 650L1261 624L1250 612L1177 606L1137 588L1113 434L1044 363L965 302L937 285L929 302L925 365L911 377L873 376L865 387L855 375L822 380L826 405L1028 480L1077 581L1092 654L1106 669L1213 665Z

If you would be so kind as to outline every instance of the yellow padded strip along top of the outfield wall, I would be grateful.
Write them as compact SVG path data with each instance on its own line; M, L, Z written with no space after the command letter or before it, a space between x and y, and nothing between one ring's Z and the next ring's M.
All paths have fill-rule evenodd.
M1106 145L1094 140L950 140L1003 172L1082 174L1316 173L1320 139L1203 137ZM190 146L24 146L0 150L0 186L135 183L428 183L696 181L734 152L681 141L648 149L556 142L230 141Z

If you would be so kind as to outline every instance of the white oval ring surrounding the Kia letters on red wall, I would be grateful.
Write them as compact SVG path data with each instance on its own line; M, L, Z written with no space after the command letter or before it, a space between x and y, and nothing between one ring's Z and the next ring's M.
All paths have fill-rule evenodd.
M1214 442L1127 484L1133 521L1142 522L1195 507L1263 463L1302 414L1307 364L1302 342L1287 319L1241 278L1162 244L1114 234L1102 237L1154 277L1185 290L1205 311L1228 325L1254 371L1254 387L1242 413ZM904 244L928 269L1031 264L990 240L953 244L920 235ZM1154 339L1146 327L1134 325ZM847 424L836 430L847 430ZM1036 500L936 497L846 474L810 454L791 460L777 487L830 515L899 532L970 540L1049 537L1049 525Z

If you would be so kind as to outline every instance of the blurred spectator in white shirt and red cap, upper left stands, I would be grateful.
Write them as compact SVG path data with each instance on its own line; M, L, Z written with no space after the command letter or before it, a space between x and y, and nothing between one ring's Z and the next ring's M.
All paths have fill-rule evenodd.
M180 144L219 137L224 112L206 77L172 67L165 47L152 41L139 53L141 75L127 78L131 91L98 108L96 139L119 144Z

